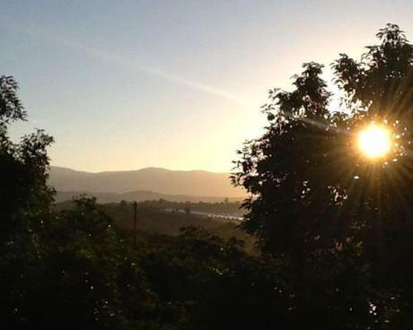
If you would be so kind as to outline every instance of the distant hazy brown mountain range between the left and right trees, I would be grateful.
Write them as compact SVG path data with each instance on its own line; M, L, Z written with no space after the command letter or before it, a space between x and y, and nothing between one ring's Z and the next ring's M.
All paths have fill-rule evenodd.
M241 188L231 185L229 173L204 170L146 168L92 173L52 166L49 175L49 185L57 190L57 202L82 193L96 196L101 203L160 198L217 202L245 196Z

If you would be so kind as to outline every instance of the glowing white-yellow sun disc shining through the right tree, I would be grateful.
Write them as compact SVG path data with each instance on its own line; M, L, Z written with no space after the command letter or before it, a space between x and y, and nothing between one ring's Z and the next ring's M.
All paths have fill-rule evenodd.
M391 149L391 134L384 126L371 124L358 134L358 147L368 158L380 158Z

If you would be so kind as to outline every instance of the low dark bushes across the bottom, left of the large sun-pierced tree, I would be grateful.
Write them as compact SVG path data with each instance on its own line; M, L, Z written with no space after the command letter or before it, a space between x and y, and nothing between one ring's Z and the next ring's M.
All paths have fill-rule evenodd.
M4 328L252 328L258 294L280 295L268 265L237 239L188 228L178 237L140 232L133 245L92 199L46 219L4 242Z

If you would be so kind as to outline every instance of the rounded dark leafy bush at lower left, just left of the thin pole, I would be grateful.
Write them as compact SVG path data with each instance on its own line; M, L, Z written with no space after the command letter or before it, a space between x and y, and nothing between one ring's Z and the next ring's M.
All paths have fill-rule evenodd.
M27 324L63 329L156 325L156 296L139 258L95 202L76 200L42 233L41 276L24 301Z

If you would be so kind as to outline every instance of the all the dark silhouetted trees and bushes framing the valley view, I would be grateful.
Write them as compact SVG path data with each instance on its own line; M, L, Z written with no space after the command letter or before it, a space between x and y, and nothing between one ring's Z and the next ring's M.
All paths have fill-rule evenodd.
M270 91L267 131L245 144L233 174L250 192L243 228L258 239L258 255L193 227L141 232L133 244L113 219L119 205L81 198L52 207L52 138L10 140L10 124L26 114L13 78L0 77L2 326L411 328L413 48L395 25L378 37L364 62L335 63L349 113L329 112L314 63L294 77L294 91ZM374 163L351 137L372 120L398 140Z

